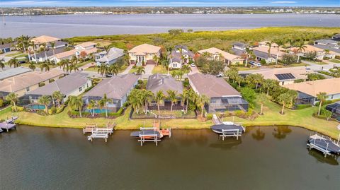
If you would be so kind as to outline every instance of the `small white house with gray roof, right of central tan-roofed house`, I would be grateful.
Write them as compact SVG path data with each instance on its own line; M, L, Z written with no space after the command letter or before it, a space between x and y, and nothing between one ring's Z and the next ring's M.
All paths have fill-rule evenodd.
M195 54L191 52L188 47L183 45L176 45L175 49L169 54L169 68L181 69L183 64L189 64L193 61Z

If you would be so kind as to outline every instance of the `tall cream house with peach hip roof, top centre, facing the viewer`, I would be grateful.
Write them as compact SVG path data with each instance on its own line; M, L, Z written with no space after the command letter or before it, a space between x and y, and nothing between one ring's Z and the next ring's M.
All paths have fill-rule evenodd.
M128 53L130 64L136 64L137 66L156 64L154 62L154 57L159 58L161 56L161 47L150 44L141 44L130 49Z

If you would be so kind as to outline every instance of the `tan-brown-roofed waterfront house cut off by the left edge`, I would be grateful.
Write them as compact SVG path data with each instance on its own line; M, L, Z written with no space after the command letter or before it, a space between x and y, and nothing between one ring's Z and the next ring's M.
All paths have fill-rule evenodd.
M25 95L30 90L39 88L39 83L50 83L64 76L64 72L53 69L47 72L28 72L0 82L0 97L9 93L16 93L18 97Z

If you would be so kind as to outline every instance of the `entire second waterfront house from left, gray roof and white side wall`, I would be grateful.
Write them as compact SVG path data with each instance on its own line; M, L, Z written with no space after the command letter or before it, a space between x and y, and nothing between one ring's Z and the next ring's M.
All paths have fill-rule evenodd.
M63 101L65 102L70 95L80 95L84 93L87 88L90 88L91 85L91 79L88 78L88 74L78 71L40 88L31 90L26 93L26 96L28 100L30 100L30 103L34 103L38 102L39 97L42 95L52 96L52 93L60 91L60 93L64 95Z

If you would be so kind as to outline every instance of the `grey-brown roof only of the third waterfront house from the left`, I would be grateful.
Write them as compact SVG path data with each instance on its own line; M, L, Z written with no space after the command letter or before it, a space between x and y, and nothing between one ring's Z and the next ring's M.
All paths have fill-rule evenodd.
M94 88L89 90L84 97L103 97L104 94L108 98L120 100L134 87L139 76L128 73L122 76L113 76L104 79Z

